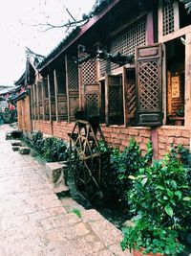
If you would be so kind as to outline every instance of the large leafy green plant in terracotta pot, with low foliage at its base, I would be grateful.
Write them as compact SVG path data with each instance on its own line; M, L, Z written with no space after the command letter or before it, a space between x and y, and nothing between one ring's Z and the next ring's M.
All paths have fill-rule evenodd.
M130 175L133 185L127 198L134 213L134 225L124 230L121 247L133 255L177 255L184 249L180 241L182 225L191 212L191 190L186 170L175 151L163 161Z

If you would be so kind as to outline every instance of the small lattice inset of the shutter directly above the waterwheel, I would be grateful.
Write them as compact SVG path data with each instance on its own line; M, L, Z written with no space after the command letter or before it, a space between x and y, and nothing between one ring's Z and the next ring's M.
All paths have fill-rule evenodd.
M87 116L99 115L99 95L86 94L86 114Z

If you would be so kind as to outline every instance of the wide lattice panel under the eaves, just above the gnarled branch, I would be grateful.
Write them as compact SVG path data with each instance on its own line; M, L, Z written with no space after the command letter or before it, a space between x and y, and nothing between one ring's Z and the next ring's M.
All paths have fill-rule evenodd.
M111 41L110 53L120 53L122 55L135 55L136 46L146 44L146 22L139 20L138 23L129 26L127 31L122 35L117 35ZM111 63L111 69L117 68L118 65Z

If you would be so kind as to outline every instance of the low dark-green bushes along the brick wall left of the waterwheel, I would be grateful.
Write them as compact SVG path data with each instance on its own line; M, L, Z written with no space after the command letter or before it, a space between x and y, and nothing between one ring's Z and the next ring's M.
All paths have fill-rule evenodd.
M32 132L32 147L48 161L65 161L69 159L69 149L66 142L57 138L45 138L41 131Z

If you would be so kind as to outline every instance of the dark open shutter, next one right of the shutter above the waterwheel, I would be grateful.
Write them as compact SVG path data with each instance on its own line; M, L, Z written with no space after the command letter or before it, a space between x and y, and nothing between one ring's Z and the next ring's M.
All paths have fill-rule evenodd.
M105 80L106 125L123 124L123 99L121 77L107 75Z

